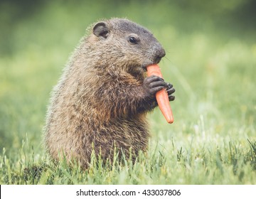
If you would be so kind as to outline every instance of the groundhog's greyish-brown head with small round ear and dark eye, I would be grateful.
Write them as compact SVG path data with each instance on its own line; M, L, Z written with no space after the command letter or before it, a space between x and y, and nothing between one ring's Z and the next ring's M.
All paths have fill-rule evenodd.
M165 55L164 48L150 31L123 18L95 23L87 41L95 51L95 59L133 70L159 63Z

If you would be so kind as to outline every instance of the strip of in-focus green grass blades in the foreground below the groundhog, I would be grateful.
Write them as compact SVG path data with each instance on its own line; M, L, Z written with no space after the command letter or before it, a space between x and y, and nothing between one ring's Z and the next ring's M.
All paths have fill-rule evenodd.
M165 143L166 144L166 143ZM26 144L25 144L26 145ZM210 144L209 144L210 145ZM40 154L28 154L23 146L16 161L1 156L4 184L251 184L255 183L256 144L200 145L177 148L150 145L147 156L137 161L102 165L92 155L91 166L82 171L76 163L54 164ZM186 144L184 144L186 147Z

